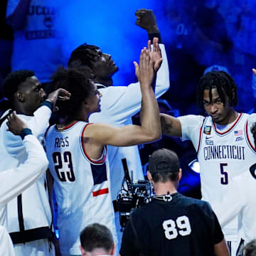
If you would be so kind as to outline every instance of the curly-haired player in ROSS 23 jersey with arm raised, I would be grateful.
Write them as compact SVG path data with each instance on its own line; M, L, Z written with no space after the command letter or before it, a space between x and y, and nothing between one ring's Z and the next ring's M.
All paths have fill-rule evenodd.
M117 242L110 196L106 145L130 146L152 142L161 136L159 108L152 89L153 63L144 48L139 65L134 62L142 90L142 125L112 127L88 123L100 111L100 92L82 70L60 69L53 85L70 90L70 102L58 105L63 124L50 127L46 153L58 203L58 228L62 255L80 255L80 231L91 223L106 225ZM75 85L75 86L74 86Z

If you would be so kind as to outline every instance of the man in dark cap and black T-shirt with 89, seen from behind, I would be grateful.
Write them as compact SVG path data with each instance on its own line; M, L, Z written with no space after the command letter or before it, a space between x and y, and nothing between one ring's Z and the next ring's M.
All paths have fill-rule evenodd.
M121 256L230 255L210 205L177 193L181 168L174 151L154 151L147 175L156 196L130 214Z

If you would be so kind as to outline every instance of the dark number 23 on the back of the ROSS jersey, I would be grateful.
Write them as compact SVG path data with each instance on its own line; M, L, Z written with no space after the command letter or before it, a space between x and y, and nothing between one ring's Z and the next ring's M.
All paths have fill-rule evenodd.
M62 171L63 169L63 161L64 163L68 164L69 171ZM54 152L53 153L53 162L56 164L54 166L56 174L60 181L75 181L75 174L73 171L73 163L72 163L72 156L70 151L65 151L63 153L63 160L60 152Z

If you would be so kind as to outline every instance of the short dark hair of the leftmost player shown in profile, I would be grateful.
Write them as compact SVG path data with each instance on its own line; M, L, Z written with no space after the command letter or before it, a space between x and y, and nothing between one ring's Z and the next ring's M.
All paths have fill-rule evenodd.
M33 75L35 75L33 70L17 70L9 73L3 82L4 96L9 100L13 100L14 93L18 91L21 84Z

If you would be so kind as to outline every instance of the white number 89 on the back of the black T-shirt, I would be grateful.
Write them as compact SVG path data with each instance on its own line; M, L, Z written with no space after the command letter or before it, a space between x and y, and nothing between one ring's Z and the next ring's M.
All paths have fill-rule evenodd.
M164 235L167 239L175 239L178 234L185 236L191 233L191 225L189 223L188 217L183 215L174 220L164 220L163 222ZM177 226L177 227L176 227Z

